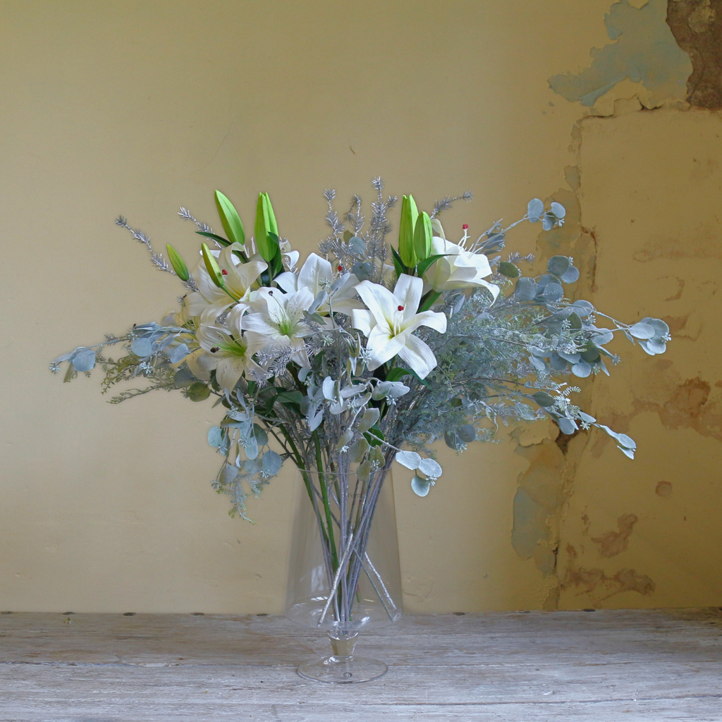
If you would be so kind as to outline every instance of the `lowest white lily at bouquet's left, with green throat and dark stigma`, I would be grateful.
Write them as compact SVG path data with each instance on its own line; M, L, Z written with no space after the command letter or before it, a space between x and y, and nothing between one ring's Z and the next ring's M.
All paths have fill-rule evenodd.
M226 391L232 391L244 373L254 380L266 378L266 372L252 358L262 346L242 333L241 316L243 310L236 306L228 314L227 326L201 323L196 331L198 342L206 352L196 363L204 370L214 368L216 380Z

